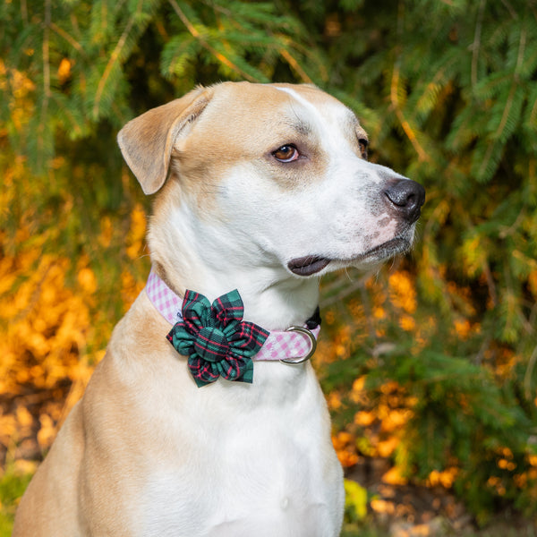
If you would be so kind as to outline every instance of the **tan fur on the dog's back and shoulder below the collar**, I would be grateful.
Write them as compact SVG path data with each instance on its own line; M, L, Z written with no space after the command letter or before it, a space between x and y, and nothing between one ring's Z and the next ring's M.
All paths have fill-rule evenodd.
M30 482L13 536L124 534L125 518L136 517L139 491L124 488L119 477L147 465L155 447L150 430L158 425L141 422L140 404L144 391L166 375L161 356L168 356L168 344L154 335L167 328L141 294L115 327L107 356ZM134 437L132 424L140 431ZM81 530L85 519L92 525Z

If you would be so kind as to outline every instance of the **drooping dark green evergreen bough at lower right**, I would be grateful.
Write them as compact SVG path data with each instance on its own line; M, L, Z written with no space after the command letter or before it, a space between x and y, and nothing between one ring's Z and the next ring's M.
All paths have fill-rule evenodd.
M405 474L425 481L432 470L446 466L447 455L455 457L460 471L456 489L482 520L493 512L499 495L521 499L512 480L515 470L529 469L532 422L517 404L513 386L499 386L489 371L464 358L429 349L412 356L402 350L383 358L389 378L416 400L396 453ZM371 372L371 387L381 378ZM507 461L503 469L500 460Z

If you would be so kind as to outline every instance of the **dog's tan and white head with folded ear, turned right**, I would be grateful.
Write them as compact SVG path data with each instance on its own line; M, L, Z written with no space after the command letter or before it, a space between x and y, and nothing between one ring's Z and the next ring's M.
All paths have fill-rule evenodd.
M311 86L198 88L133 119L118 141L143 191L162 191L152 226L169 239L157 250L194 234L210 262L236 257L281 277L408 250L425 198L420 184L369 163L356 116Z

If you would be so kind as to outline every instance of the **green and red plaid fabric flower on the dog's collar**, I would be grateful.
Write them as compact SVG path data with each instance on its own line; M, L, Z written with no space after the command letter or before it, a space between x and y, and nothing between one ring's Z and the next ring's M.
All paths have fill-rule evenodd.
M186 291L183 319L166 337L179 354L188 356L199 387L218 377L251 383L251 357L260 351L269 332L243 321L243 314L243 300L236 289L212 305L203 294Z

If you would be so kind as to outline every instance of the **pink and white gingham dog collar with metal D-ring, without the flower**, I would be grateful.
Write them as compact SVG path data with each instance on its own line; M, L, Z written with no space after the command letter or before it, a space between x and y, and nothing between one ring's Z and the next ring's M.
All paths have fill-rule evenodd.
M183 318L181 309L183 299L177 296L151 268L145 287L150 302L158 312L174 325ZM312 323L316 324L316 323ZM284 361L286 363L305 362L315 351L320 325L311 327L310 321L303 327L290 327L286 331L270 332L259 353L253 356L256 362Z

